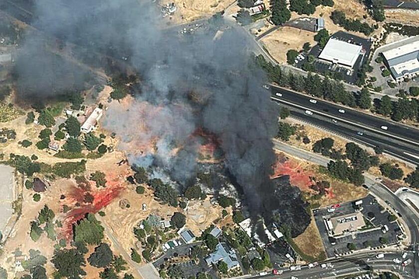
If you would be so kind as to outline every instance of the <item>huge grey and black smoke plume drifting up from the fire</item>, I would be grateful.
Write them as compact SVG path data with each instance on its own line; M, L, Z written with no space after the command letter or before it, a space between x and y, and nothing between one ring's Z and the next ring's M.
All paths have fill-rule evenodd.
M192 35L180 36L179 28L167 25L150 0L37 0L35 14L33 24L65 41L64 47L83 46L77 57L93 60L93 53L129 57L141 74L137 102L129 111L111 106L104 123L122 138L131 163L154 166L156 176L163 175L162 170L185 185L197 171L199 142L191 134L196 129L208 131L218 138L226 167L242 188L251 216L263 217L270 225L272 212L281 203L274 194L277 186L269 179L278 112L261 87L265 75L253 65L251 43L241 29L218 19ZM223 32L214 36L220 25ZM47 56L31 48L32 40L28 35L23 50L42 65ZM42 86L55 72L65 70L56 67L45 79L31 76L30 70L17 70L26 78L36 77ZM74 77L71 86L78 80ZM146 132L136 129L140 122ZM157 140L153 152L127 150L132 142L142 146L151 139Z

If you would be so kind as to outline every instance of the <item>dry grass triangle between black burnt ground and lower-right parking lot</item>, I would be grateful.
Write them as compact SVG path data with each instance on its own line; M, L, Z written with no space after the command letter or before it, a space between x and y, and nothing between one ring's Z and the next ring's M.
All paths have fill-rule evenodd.
M314 217L311 217L310 225L301 235L293 239L294 243L304 252L304 254L317 258L326 257L323 242L317 229Z

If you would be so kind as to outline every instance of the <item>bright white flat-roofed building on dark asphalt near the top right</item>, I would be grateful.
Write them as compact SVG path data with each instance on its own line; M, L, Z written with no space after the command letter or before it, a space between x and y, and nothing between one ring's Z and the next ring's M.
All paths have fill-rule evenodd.
M319 58L334 64L354 67L362 51L362 45L352 44L343 40L330 38Z

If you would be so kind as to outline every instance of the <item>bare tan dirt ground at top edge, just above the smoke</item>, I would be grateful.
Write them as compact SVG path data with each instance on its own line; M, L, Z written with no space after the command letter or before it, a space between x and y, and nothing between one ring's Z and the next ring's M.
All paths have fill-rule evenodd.
M174 2L177 10L170 17L175 23L185 23L199 18L210 17L224 10L234 0L163 0L162 5Z

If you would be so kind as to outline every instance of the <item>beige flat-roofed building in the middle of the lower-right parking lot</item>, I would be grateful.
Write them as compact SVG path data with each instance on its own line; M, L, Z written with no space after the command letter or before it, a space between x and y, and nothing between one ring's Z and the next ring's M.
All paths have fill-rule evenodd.
M333 236L347 232L355 232L365 226L364 217L361 212L349 213L335 216L325 220L326 228Z

